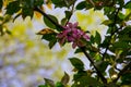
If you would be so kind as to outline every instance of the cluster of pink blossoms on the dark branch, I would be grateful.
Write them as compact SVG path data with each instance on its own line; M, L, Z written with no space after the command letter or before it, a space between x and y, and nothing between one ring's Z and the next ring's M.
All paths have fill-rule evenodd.
M78 47L84 47L85 44L83 42L83 39L88 41L90 37L82 30L78 28L78 22L72 24L68 23L66 26L63 26L64 30L62 30L60 34L57 35L60 45L63 45L64 42L73 42L72 48Z

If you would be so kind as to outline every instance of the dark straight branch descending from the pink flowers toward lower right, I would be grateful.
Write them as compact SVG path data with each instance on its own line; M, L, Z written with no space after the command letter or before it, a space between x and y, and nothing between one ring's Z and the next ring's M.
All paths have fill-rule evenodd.
M85 51L85 48L81 48L83 53L86 55L86 58L90 60L90 62L92 63L92 65L94 66L94 69L96 70L97 75L100 77L102 82L104 84L107 84L107 79L104 77L104 75L100 73L100 71L96 67L93 58Z

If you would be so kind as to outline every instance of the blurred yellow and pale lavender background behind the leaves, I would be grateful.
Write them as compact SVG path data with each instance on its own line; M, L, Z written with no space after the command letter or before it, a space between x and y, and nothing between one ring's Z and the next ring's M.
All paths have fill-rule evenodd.
M45 12L55 15L59 22L64 17L66 9L55 9L53 5L44 5ZM0 16L4 16L0 13ZM106 20L102 11L75 11L70 22L79 22L83 30L90 30L95 35L95 30L102 36L107 27L100 23ZM78 57L88 67L88 61L82 53L74 54L71 45L60 47L57 44L51 50L48 41L41 40L41 36L36 35L47 26L43 16L35 13L31 20L17 17L13 23L5 24L11 35L0 36L0 87L37 87L44 84L44 77L60 80L64 72L72 75L72 65L69 58Z

